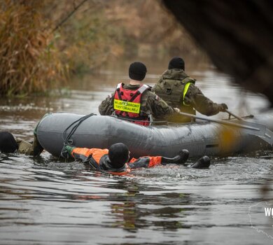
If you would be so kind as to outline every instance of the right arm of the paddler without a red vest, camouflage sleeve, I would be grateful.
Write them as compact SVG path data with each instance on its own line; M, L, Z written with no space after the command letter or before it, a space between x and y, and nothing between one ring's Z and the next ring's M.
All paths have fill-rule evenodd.
M220 111L228 109L226 104L217 104L212 102L211 99L205 97L201 90L194 84L191 84L188 88L184 102L192 105L197 111L206 116L213 116Z

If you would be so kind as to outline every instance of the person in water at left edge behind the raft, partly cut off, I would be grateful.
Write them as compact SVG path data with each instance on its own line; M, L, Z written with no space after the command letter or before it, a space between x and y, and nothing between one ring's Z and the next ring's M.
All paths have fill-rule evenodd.
M38 156L42 153L43 147L38 142L35 130L33 142L15 138L10 132L0 132L0 151L1 153L19 153Z

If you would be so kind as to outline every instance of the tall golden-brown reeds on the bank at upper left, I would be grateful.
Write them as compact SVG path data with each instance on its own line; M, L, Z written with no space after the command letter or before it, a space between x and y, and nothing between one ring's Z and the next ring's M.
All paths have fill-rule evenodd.
M64 66L46 29L43 1L3 0L0 7L0 93L45 92L64 77Z

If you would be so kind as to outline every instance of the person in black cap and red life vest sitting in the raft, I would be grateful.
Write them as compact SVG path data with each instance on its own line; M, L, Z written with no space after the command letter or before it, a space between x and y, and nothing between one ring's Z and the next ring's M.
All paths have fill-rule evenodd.
M99 105L99 113L116 115L118 118L145 126L149 125L151 117L155 120L164 120L176 115L179 109L168 106L164 100L151 92L151 87L141 83L146 72L143 63L132 63L129 68L130 84L120 83L116 92Z

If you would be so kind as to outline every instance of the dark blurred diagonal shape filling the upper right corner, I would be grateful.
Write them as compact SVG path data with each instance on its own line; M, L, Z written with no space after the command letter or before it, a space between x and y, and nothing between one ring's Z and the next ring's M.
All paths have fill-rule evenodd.
M265 94L273 107L272 1L163 3L218 69L248 90Z

